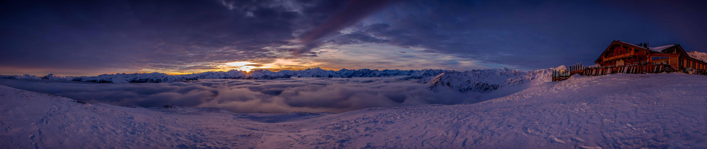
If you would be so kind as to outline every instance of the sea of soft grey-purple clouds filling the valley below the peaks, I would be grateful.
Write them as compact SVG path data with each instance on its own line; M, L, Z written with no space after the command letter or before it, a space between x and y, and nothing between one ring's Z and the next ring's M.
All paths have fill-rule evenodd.
M429 90L428 85L374 78L199 79L173 83L87 83L0 78L21 90L89 103L140 107L217 107L231 112L349 112L369 107L469 104L512 93Z

